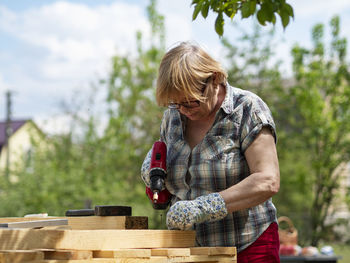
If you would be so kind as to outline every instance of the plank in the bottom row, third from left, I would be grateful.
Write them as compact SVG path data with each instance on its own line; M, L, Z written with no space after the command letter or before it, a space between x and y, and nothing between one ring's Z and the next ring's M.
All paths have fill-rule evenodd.
M113 250L100 250L93 252L94 258L150 258L150 249L113 249Z

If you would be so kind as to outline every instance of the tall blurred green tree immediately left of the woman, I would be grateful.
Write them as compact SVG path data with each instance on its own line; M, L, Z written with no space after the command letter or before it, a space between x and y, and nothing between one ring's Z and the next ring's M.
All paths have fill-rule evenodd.
M116 55L112 59L112 72L107 80L109 124L105 139L115 147L120 180L129 182L124 188L129 203L152 218L152 227L164 227L159 212L151 204L145 205L148 201L140 178L142 162L159 140L163 112L155 102L155 80L165 52L165 30L164 17L157 13L155 5L152 0L147 8L152 28L150 46L142 45L142 35L138 33L136 56Z

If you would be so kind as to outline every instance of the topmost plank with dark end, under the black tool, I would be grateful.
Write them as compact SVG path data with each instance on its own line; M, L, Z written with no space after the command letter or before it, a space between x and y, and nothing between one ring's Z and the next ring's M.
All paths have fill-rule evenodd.
M0 223L25 222L32 220L67 219L73 230L97 229L148 229L146 216L81 216L81 217L3 217Z

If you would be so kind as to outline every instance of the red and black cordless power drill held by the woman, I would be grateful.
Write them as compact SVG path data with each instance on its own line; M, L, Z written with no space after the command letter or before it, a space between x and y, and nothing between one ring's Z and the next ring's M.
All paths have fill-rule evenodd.
M150 188L146 187L146 194L152 202L154 209L166 209L171 200L171 194L167 189L163 189L166 177L166 144L157 141L153 144L150 164Z

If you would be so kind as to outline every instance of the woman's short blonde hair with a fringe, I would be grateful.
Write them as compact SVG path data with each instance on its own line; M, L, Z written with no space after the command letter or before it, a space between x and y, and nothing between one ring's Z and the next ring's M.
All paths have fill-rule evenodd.
M190 42L181 42L163 57L157 78L156 100L159 106L168 106L177 99L186 98L204 102L211 92L203 94L207 80L215 74L215 82L224 84L227 73L220 63L203 48Z

